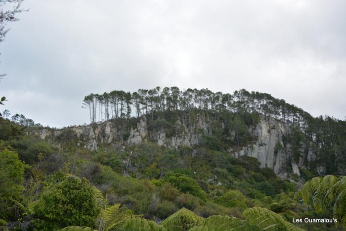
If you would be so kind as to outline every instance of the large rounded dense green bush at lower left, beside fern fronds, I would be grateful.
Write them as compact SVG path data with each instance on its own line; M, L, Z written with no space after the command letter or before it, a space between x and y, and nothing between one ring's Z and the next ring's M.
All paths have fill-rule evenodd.
M57 230L68 226L95 227L100 209L86 179L67 177L46 188L34 206L35 227Z

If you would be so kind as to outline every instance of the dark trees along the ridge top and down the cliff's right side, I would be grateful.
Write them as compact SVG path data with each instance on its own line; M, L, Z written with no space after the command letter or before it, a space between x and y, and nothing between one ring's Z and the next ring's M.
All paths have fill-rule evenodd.
M242 89L230 94L208 89L181 91L177 87L156 87L150 90L139 89L133 93L91 93L85 96L83 104L89 109L91 123L112 118L124 119L128 122L127 128L130 131L133 123L131 115L139 117L145 114L148 119L152 119L151 129L164 128L168 136L173 135L174 118L178 117L179 113L209 112L220 117L228 126L227 129L235 133L233 142L237 146L244 146L252 140L248 129L256 126L259 115L264 115L291 126L292 133L285 137L284 141L292 145L295 162L298 163L302 153L311 147L318 158L309 169L323 165L326 167L326 174L346 174L346 121L328 116L314 118L303 109L267 93ZM215 127L220 128L221 125ZM227 136L222 134L221 130L213 131L213 135L218 140L205 136L203 141L205 145L209 145L208 148L220 150L222 143L219 140L224 142L222 135Z

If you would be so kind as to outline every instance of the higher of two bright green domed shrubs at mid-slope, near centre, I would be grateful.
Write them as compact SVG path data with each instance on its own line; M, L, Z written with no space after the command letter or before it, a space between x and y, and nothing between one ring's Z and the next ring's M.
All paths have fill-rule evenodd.
M207 199L206 193L201 189L196 181L186 175L180 173L170 174L164 177L164 181L171 183L181 192L190 193L191 195L197 196L202 200Z

